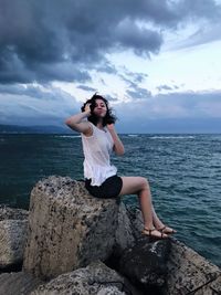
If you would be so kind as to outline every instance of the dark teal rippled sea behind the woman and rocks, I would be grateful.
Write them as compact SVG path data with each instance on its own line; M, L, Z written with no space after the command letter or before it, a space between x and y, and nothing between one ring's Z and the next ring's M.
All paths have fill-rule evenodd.
M120 135L113 155L119 176L143 176L152 202L176 238L221 267L221 135ZM0 134L0 204L29 209L33 186L49 176L83 179L75 134ZM123 202L139 207L136 196Z

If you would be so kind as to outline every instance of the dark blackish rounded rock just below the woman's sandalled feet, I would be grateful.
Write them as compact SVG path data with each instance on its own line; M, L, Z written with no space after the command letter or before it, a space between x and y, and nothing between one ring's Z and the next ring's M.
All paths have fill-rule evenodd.
M148 236L143 236L120 257L120 273L145 287L161 287L167 280L169 250L170 239L150 241Z

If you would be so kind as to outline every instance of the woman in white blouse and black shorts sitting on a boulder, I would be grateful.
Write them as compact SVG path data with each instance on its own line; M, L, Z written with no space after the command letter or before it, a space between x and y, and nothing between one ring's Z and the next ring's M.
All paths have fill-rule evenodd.
M70 128L82 134L85 187L97 198L137 194L144 218L143 233L165 239L175 231L157 217L148 181L143 177L119 177L116 167L110 165L112 150L119 156L125 151L114 127L115 120L108 102L97 94L83 105L82 113L65 120Z

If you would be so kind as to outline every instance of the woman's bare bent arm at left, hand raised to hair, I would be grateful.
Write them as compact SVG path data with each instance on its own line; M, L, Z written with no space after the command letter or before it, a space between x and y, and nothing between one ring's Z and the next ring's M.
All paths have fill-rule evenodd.
M83 113L73 115L65 119L65 124L77 133L83 133L86 136L92 135L92 127L90 126L88 122L84 119L87 118L91 114L90 106L85 107Z

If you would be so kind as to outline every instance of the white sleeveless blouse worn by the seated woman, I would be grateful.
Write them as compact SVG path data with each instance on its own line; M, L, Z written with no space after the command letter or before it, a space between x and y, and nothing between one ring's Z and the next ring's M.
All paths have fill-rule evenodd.
M90 123L93 128L92 136L82 134L84 151L84 177L92 179L92 186L101 186L108 177L116 175L117 168L110 165L109 156L113 151L114 140L106 127L104 130Z

